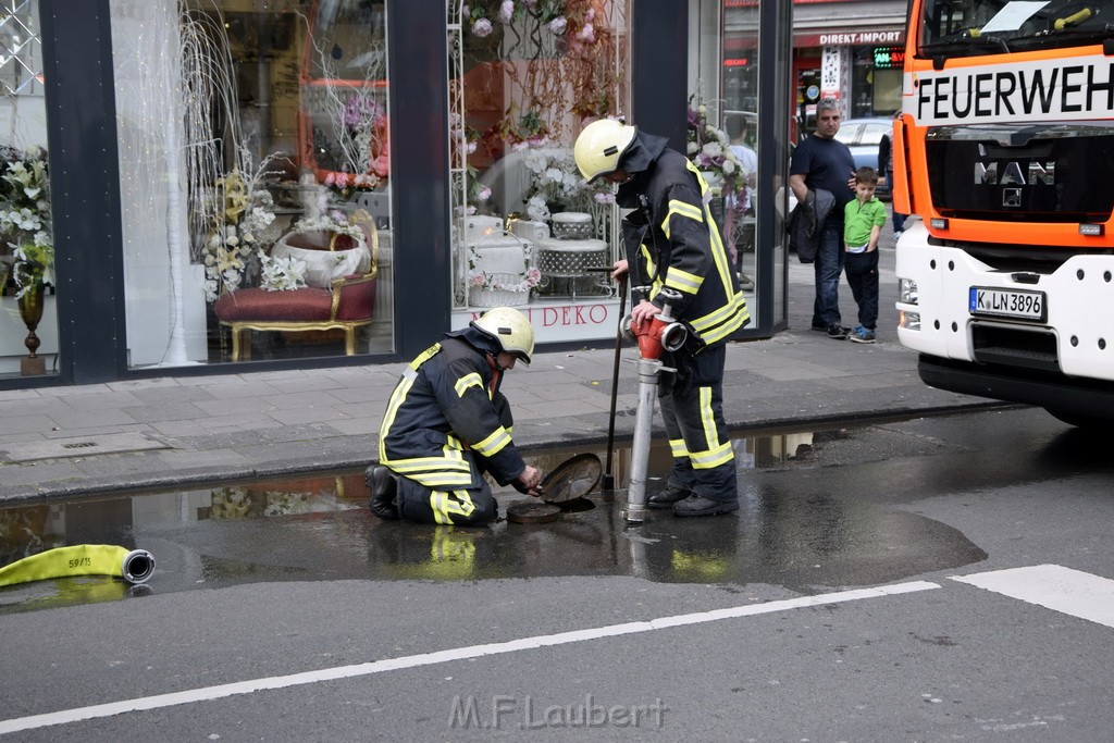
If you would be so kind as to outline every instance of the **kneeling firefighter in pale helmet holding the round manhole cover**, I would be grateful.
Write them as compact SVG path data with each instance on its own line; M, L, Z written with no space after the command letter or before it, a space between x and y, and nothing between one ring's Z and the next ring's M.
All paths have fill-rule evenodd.
M496 307L444 334L410 362L379 430L379 466L369 468L371 510L383 519L479 526L498 505L485 479L537 496L541 472L522 461L499 391L516 361L530 363L534 327L518 310Z

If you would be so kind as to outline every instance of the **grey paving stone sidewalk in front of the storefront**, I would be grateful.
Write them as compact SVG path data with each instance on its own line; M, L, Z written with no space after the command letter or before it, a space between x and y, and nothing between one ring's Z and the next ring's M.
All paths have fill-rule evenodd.
M724 412L734 431L823 428L991 403L925 387L897 340L893 242L883 237L878 342L833 341L809 327L812 266L790 256L790 330L732 343ZM847 284L844 324L856 324ZM633 346L619 364L615 441L629 443L637 405ZM614 341L537 353L507 375L515 439L526 450L606 442ZM169 488L365 467L404 364L160 378L0 391L0 501ZM661 419L656 418L661 429ZM661 437L661 430L655 437Z

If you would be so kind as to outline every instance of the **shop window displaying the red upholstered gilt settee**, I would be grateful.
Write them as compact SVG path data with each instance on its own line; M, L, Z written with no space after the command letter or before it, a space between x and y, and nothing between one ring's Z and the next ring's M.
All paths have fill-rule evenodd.
M383 0L110 0L131 368L388 353Z

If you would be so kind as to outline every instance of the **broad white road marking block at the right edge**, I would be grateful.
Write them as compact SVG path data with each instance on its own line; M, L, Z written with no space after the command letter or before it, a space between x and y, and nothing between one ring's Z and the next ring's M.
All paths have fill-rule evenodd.
M1114 627L1114 580L1061 565L950 576L952 580Z

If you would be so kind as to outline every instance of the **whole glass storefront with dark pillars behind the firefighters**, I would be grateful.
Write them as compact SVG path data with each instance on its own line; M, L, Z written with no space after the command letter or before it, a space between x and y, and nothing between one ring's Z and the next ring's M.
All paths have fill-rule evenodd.
M745 186L701 165L754 319L740 338L776 332L762 214L788 101L758 60L779 6L733 7L743 28L723 2L686 22L633 0L2 0L0 387L394 361L504 304L543 348L610 342L620 214L573 145L638 111L683 148L685 96L716 130L694 141L690 118L694 159L746 125ZM687 69L648 65L663 45Z

